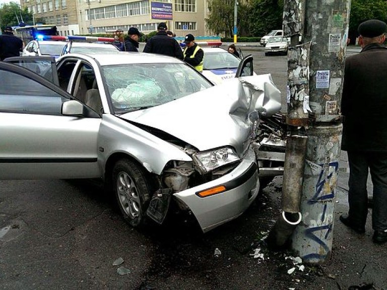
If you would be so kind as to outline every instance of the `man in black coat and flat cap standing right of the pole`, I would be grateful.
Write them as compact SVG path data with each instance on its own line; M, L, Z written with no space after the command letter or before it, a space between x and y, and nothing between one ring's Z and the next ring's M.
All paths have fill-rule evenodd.
M368 169L373 184L372 239L387 242L387 25L368 20L358 27L359 54L345 62L342 150L348 153L349 212L340 220L364 233L367 219Z

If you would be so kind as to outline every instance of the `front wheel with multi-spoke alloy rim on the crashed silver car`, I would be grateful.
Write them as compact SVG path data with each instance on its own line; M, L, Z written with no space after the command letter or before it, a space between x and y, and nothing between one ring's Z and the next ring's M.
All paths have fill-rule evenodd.
M147 220L150 189L144 170L130 159L122 159L113 168L113 191L126 223L141 228Z

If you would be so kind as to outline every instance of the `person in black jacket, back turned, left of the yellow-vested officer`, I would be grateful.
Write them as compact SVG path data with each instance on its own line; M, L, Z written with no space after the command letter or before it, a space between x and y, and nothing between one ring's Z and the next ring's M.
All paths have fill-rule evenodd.
M144 52L158 53L173 56L179 59L183 59L183 52L176 39L168 36L167 34L167 25L164 22L161 22L157 26L157 33L155 36L151 37L147 44L144 47Z

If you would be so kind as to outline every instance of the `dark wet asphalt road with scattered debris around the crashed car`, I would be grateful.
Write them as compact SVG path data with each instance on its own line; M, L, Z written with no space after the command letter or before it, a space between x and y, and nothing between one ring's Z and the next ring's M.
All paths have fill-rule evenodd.
M286 56L242 50L283 92ZM207 234L191 216L174 213L165 226L134 230L92 181L0 181L0 289L348 289L371 282L387 289L387 250L372 244L370 219L365 236L338 222L348 209L347 179L343 172L338 181L331 258L293 274L291 253L269 251L264 240L279 214L281 177L240 218ZM254 258L258 248L264 256ZM113 266L118 258L123 263Z

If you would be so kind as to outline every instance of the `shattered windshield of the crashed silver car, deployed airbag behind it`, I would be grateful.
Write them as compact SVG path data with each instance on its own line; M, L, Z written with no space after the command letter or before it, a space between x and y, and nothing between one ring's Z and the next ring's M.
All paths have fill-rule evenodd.
M184 63L107 65L102 74L115 114L162 105L212 87Z

